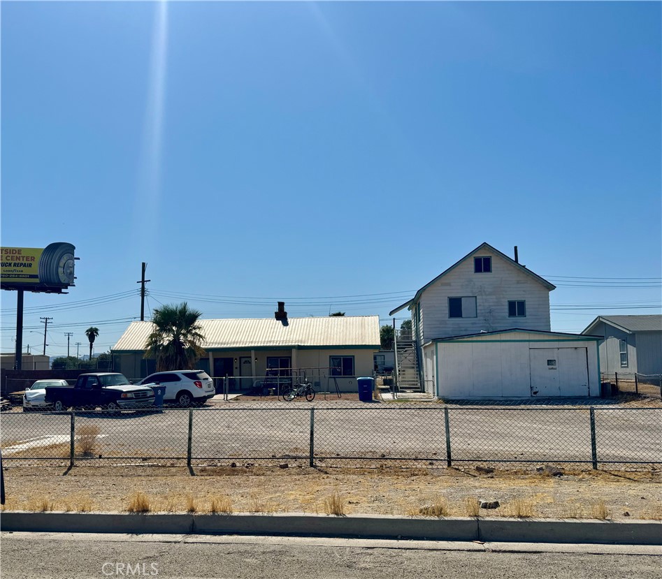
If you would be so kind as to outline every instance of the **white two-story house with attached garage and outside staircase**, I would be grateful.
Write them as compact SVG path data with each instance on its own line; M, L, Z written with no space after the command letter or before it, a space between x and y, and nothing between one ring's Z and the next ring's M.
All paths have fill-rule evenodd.
M396 337L401 385L414 376L452 398L598 396L598 338L551 331L554 287L517 251L481 244L390 312L412 316L412 335Z

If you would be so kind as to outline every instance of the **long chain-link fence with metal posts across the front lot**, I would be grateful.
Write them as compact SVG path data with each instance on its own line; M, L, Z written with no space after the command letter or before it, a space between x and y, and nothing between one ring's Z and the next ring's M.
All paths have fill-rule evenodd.
M662 464L662 409L233 406L7 413L13 464Z

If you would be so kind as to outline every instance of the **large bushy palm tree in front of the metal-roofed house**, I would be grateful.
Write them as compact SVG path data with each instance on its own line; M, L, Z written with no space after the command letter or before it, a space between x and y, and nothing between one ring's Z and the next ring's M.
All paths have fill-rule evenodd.
M154 329L147 337L145 358L156 358L157 372L193 369L205 351L199 318L202 312L186 302L154 309Z

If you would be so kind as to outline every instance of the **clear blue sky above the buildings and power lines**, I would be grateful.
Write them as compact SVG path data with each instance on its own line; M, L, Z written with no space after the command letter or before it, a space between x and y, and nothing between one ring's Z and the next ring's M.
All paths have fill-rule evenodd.
M80 257L68 295L26 294L24 345L49 316L47 353L89 325L108 350L143 261L149 308L385 323L483 241L558 286L553 330L660 313L660 24L652 2L3 2L1 242Z

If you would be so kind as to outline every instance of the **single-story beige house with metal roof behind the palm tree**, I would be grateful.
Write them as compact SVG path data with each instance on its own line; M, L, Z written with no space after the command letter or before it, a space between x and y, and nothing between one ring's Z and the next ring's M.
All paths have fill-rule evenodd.
M315 388L357 389L357 376L373 375L380 349L379 316L201 320L205 356L198 363L210 376L233 377L230 386L247 390L265 376L306 373ZM278 315L278 312L277 312ZM143 378L154 372L145 360L151 322L132 322L111 349L116 372ZM301 376L295 376L303 378Z

